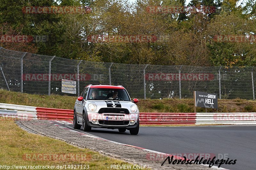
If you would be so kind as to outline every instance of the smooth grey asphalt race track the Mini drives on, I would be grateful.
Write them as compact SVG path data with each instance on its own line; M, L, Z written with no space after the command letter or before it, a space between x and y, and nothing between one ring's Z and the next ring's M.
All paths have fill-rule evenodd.
M235 165L221 166L227 169L256 166L256 126L140 127L139 135L135 136L129 131L92 128L90 134L169 154L210 153L220 159L236 159Z

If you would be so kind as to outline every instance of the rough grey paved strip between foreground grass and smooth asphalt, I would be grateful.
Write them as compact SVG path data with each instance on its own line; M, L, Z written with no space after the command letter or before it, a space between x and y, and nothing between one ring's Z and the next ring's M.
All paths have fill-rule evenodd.
M215 169L209 168L209 166L203 165L172 165L168 164L168 160L163 163L164 159L154 160L148 159L150 154L159 154L161 158L161 153L153 152L139 147L129 146L125 144L120 144L117 142L109 141L103 138L95 137L89 135L88 133L78 132L73 129L69 129L56 121L49 120L19 120L16 122L20 128L28 131L29 133L40 134L47 137L52 137L65 141L69 144L75 145L80 148L88 148L96 152L100 152L104 155L124 160L128 163L134 165L146 165L152 169L180 169L180 170L203 170L203 169ZM118 135L118 134L117 134ZM115 149L113 149L115 148ZM107 165L106 165L107 166ZM109 169L110 169L110 165Z

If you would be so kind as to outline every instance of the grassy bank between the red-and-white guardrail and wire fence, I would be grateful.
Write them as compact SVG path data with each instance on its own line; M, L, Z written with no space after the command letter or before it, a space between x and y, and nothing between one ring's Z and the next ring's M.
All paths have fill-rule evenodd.
M73 109L76 97L60 95L37 95L0 90L0 102L35 107ZM139 99L140 112L191 113L194 112L193 99ZM255 112L254 100L218 100L219 112ZM197 112L205 112L205 108L196 108ZM207 112L216 112L208 109Z

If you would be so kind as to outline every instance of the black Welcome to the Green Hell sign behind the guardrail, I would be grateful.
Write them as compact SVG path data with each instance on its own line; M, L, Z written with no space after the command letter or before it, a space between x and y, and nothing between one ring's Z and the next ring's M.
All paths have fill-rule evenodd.
M206 92L194 92L194 101L196 107L205 107L205 108L218 108L218 96L214 93Z

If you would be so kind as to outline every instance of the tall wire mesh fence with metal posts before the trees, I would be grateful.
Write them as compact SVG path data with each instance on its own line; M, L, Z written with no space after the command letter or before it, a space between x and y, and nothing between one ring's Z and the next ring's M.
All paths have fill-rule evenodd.
M123 85L132 98L193 98L193 91L220 99L254 100L254 67L195 67L99 63L0 48L0 87L16 92L78 96L88 85ZM61 79L76 81L76 94L61 92Z

